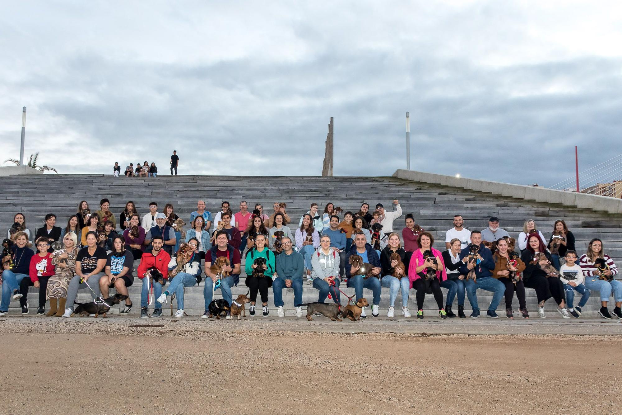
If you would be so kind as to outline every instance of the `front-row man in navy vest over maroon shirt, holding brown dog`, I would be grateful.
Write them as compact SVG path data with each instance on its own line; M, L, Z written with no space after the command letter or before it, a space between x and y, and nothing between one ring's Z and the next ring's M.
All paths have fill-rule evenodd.
M228 244L228 241L229 236L226 231L216 232L216 245L205 253L205 289L203 289L205 312L201 318L210 317L210 310L208 310L208 307L214 296L214 284L219 280L218 274L211 272L210 267L211 264L220 257L225 257L230 262L230 265L225 265L222 269L230 274L228 277L220 277L220 293L230 306L233 302L231 287L233 287L233 284L237 285L239 282L239 270L242 261L240 259L239 250ZM231 315L227 315L227 318L230 319Z

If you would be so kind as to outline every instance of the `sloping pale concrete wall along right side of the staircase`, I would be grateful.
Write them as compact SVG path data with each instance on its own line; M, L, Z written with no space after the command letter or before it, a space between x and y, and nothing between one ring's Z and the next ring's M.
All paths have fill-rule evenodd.
M393 173L393 177L501 194L502 196L510 196L512 198L535 200L546 203L559 203L565 206L592 209L593 211L622 214L622 199L607 198L606 196L523 186L522 184L499 183L498 181L458 178L455 176L423 173L422 171L406 169L397 169L396 172Z

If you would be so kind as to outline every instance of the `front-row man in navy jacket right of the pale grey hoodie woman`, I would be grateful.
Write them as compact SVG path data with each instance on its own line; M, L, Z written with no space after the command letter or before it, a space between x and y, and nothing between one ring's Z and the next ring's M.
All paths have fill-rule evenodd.
M361 231L357 232L359 233L355 235L354 244L350 247L350 252L346 255L346 277L348 277L348 287L354 287L356 299L363 298L364 288L371 290L374 295L373 305L371 306L371 315L378 317L378 305L380 304L380 292L382 290L379 275L383 269L381 268L378 254L376 254L376 251L373 250L371 245L367 243L365 234ZM360 269L360 267L350 265L350 257L355 254L363 258L363 263L367 262L373 266L371 269L373 277L364 279L364 275L355 275ZM361 312L361 317L367 317L364 308L363 312Z

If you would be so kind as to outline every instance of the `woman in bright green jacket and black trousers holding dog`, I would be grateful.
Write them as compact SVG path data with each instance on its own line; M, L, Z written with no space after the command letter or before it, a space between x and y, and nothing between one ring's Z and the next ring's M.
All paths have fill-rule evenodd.
M258 258L266 259L264 272L259 277L253 276L253 271L257 265L254 261ZM261 295L261 303L263 305L263 315L268 315L268 289L272 287L272 279L276 278L274 269L274 252L266 247L266 236L257 234L254 240L253 249L246 252L246 287L251 292L251 307L248 309L250 315L255 315L255 302L257 300L257 292Z

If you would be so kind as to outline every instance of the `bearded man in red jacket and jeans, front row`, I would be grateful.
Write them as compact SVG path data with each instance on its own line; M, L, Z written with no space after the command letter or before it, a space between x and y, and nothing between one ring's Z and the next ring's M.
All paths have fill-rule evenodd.
M147 296L149 294L149 285L153 284L154 287L154 298L160 297L162 294L162 284L159 282L153 282L153 280L149 280L149 278L145 278L145 272L151 268L156 267L162 273L162 277L167 279L167 275L169 274L169 262L170 255L162 246L164 246L164 241L162 241L161 236L154 236L151 239L152 249L151 251L147 251L142 254L141 264L138 265L138 278L142 280L142 292L141 292L141 318L149 317L149 313L147 311ZM162 315L162 305L158 302L155 303L156 307L154 308L154 312L151 315L153 318L158 318Z

